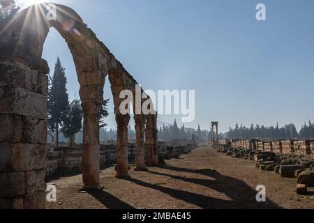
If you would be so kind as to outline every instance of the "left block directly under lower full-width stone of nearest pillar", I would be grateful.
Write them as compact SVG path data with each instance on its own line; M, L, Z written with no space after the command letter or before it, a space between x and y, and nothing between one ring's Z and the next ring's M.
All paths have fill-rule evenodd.
M0 197L17 197L26 194L24 172L0 173Z

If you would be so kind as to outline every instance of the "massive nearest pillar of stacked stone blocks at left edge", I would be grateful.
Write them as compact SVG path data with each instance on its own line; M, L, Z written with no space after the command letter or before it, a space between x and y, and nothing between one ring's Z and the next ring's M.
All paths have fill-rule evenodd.
M45 208L47 62L0 62L0 209Z

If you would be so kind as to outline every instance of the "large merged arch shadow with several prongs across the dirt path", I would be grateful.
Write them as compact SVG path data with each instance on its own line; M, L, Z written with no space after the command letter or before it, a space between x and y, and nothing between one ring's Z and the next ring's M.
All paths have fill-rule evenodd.
M150 185L148 183L144 183L140 180L134 180L133 183L137 183L139 185L143 185L146 187L150 187L156 190L160 190L161 192L165 192L166 194L170 194L172 196L172 192L177 199L183 199L186 202L194 203L201 208L281 208L276 203L267 198L267 202L257 202L256 194L257 191L253 190L250 186L244 183L241 180L236 178L232 178L230 176L225 176L217 171L211 171L210 169L186 169L181 167L172 167L172 166L160 166L160 169L167 169L170 171L179 171L182 173L191 173L191 174L202 174L204 176L209 176L214 178L215 180L207 180L207 179L197 179L197 178L186 178L182 176L176 176L172 174L163 174L156 171L149 171L151 174L158 174L162 176L168 176L177 180L184 180L188 183L194 183L198 185L202 185L205 187L209 187L212 190L216 190L221 192L227 197L230 197L232 201L224 201L220 199L213 199L210 197L204 197L200 194L193 194L190 192L184 192L181 190L169 189L166 187L160 187L156 185ZM139 182L140 181L140 182ZM190 202L190 201L193 202Z

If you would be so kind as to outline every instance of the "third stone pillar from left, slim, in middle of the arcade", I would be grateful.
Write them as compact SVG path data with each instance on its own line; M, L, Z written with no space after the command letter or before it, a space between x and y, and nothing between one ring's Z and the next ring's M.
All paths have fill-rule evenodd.
M129 178L128 174L128 123L130 115L116 114L117 121L117 178Z

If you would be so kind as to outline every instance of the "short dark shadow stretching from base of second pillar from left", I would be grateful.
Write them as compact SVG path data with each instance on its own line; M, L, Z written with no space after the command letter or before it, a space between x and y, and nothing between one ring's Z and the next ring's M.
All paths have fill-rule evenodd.
M112 194L109 194L103 190L90 190L88 191L91 196L97 199L100 203L103 203L108 209L135 209L133 206L130 206L128 203L117 199Z

